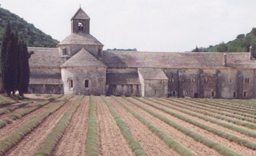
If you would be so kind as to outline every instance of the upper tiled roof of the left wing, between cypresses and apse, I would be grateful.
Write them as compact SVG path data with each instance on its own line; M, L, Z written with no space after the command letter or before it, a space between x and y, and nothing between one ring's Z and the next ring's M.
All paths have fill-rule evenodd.
M59 67L59 51L57 48L28 47L28 52L34 51L29 58L30 67Z

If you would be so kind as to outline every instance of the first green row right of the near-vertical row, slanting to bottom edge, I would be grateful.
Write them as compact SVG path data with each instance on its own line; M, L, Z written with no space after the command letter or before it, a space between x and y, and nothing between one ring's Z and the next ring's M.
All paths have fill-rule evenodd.
M101 98L106 103L110 114L114 117L117 126L120 128L121 133L125 137L126 142L131 147L131 150L135 153L135 155L148 155L148 153L141 147L139 141L132 136L130 129L125 125L124 121L120 118L113 106L106 100L105 96L101 95Z

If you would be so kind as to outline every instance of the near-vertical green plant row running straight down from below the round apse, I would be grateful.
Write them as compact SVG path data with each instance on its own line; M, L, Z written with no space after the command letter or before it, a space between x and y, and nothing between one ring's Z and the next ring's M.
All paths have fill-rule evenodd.
M94 101L94 96L90 95L88 131L87 131L86 140L85 140L86 156L99 155L99 147L98 147L97 140L98 140L98 135L97 135L96 104Z

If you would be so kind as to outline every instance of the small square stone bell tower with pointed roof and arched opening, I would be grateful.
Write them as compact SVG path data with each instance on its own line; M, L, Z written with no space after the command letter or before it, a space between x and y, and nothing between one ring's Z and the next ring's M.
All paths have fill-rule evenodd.
M81 7L71 18L71 33L90 33L90 17Z

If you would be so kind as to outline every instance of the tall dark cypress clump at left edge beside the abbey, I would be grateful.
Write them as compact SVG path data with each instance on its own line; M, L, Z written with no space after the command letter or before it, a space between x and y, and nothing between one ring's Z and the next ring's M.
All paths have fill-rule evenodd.
M27 92L29 83L29 65L27 45L18 41L17 33L7 23L1 51L1 69L3 88L7 95L19 90L20 95Z

